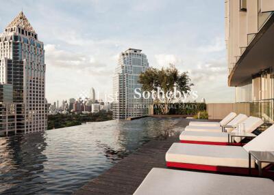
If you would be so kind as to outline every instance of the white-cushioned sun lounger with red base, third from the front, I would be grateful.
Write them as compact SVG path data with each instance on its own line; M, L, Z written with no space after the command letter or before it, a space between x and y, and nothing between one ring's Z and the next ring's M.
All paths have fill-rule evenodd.
M258 117L249 117L243 121L245 123L245 132L251 133L264 123ZM238 128L232 132L238 132ZM180 142L195 143L206 145L228 145L228 133L226 132L193 132L183 131L179 136ZM241 141L240 138L234 138L236 143Z

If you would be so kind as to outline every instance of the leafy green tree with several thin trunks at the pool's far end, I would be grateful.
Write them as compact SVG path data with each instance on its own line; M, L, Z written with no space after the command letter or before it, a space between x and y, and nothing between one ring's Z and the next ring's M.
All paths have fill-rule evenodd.
M169 67L157 69L150 67L146 72L140 74L139 82L142 84L143 91L157 91L159 88L162 90L161 97L154 95L155 103L163 102L162 113L167 114L169 112L169 104L175 100L177 94L175 89L180 91L182 97L189 94L191 87L190 78L188 72L180 73L175 65L170 64Z

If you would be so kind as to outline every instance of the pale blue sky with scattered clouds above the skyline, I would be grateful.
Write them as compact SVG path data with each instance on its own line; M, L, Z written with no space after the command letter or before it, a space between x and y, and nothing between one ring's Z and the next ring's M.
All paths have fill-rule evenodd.
M151 67L188 72L198 99L233 102L220 0L0 0L0 31L23 10L45 45L48 102L112 93L119 54L142 49Z

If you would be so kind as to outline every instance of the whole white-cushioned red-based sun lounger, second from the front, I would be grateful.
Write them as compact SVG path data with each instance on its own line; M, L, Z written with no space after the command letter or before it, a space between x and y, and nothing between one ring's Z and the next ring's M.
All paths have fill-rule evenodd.
M166 166L247 174L249 151L274 151L273 139L274 125L244 147L173 143L166 152ZM251 168L255 164L251 160Z

